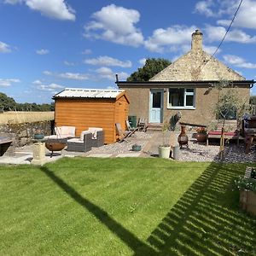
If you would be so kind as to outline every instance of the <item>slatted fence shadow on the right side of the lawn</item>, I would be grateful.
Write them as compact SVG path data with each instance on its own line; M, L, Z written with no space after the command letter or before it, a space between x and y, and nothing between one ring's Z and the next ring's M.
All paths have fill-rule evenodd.
M256 218L239 211L233 190L237 168L212 163L203 172L148 237L153 255L256 255Z

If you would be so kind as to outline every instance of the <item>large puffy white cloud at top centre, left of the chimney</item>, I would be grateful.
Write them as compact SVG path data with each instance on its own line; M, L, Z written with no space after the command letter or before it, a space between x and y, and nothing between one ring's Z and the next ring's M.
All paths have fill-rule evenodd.
M94 13L92 18L94 20L84 26L85 38L103 39L134 47L143 44L143 34L135 26L140 20L137 10L110 4Z

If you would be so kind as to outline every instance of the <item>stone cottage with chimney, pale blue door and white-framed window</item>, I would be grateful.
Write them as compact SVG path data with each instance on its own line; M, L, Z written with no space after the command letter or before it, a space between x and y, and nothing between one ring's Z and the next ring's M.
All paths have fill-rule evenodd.
M146 118L149 123L163 123L181 112L183 122L208 125L216 119L213 108L218 90L214 84L218 81L232 82L241 99L249 97L254 81L207 54L202 39L202 32L193 32L189 52L148 82L116 81L131 100L130 115Z

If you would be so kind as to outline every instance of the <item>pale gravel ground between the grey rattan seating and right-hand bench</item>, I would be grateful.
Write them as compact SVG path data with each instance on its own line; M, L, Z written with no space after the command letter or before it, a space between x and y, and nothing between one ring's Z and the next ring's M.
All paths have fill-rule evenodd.
M219 144L199 144L196 139L192 137L192 133L188 134L189 148L181 148L179 152L180 161L214 161L220 162L218 157ZM143 132L137 131L131 137L127 138L125 142L113 143L105 145L101 148L93 148L90 154L124 154L131 153L132 145L137 143L142 146L143 157L157 157L158 145L161 142L161 132ZM244 153L244 144L239 146L236 143L230 143L225 145L224 149L224 161L225 163L239 163L239 162L255 162L256 153L255 150L251 150L249 154Z

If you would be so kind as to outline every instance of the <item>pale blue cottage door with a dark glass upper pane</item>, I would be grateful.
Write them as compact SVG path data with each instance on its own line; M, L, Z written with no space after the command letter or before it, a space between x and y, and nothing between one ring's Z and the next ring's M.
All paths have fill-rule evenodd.
M161 123L163 116L163 90L150 90L149 122Z

